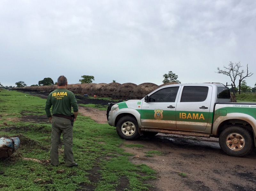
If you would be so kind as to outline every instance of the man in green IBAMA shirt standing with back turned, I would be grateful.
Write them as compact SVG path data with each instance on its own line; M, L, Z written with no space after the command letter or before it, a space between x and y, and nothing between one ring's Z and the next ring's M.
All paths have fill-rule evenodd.
M60 76L57 80L58 88L52 91L45 104L45 112L52 123L52 145L50 150L51 163L54 166L59 164L58 147L60 135L62 133L64 141L64 156L68 167L78 166L74 161L73 145L73 122L78 114L78 105L73 92L67 90L68 80L65 76ZM71 117L71 106L74 116ZM52 107L52 115L50 108Z

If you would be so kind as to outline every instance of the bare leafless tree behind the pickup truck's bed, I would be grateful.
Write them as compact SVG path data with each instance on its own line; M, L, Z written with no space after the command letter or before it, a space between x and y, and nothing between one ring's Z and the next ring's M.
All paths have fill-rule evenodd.
M240 77L239 86L238 86L238 90L239 90L239 94L240 94L242 80L244 80L246 77L252 76L252 74L253 74L253 73L249 73L248 64L247 64L247 73L245 76L244 76L245 71L244 70L240 71L240 69L243 67L243 66L241 66L240 62L238 62L238 63L229 62L228 67L226 67L226 66L223 66L223 67L224 67L224 70L220 70L220 68L218 67L217 73L222 73L224 75L229 76L231 79L231 82L233 83L232 85L234 85L235 89L236 89L236 83L235 83L236 79L238 77Z

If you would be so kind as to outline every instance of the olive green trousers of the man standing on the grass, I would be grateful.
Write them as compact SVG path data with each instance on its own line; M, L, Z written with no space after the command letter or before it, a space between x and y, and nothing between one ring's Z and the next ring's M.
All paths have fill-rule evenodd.
M72 166L75 164L75 162L72 151L73 126L71 125L71 120L52 116L52 145L50 150L52 165L59 164L58 148L60 144L61 133L64 141L64 156L66 160L66 165Z

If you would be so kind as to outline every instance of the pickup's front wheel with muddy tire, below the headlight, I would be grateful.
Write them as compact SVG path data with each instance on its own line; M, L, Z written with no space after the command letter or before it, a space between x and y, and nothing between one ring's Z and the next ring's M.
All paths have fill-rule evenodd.
M135 140L140 136L137 120L132 116L120 118L116 124L116 132L125 140Z

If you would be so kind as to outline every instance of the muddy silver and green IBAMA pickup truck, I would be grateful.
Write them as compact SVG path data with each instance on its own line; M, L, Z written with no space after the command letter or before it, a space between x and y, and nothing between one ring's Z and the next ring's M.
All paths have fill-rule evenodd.
M234 157L256 147L256 103L232 103L220 83L162 86L140 100L109 103L107 119L125 140L157 133L216 137Z

